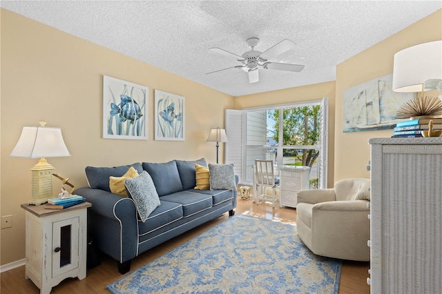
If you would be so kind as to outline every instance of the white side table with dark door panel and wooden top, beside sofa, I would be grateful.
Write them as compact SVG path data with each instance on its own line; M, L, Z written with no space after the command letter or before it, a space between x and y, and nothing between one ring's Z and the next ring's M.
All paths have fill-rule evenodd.
M66 277L86 277L87 208L84 202L55 210L21 204L26 210L26 279L50 293Z

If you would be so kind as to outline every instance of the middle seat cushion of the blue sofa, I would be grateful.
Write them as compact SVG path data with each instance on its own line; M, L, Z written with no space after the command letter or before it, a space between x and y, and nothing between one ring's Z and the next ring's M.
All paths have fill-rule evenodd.
M183 217L190 217L195 213L212 207L212 195L181 191L160 197L162 201L175 202L182 205Z

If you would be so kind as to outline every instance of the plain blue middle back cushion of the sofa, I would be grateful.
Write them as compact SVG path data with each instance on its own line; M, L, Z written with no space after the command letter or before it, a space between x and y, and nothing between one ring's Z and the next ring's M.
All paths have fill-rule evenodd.
M180 174L175 160L161 164L143 162L142 166L151 175L159 196L182 190Z

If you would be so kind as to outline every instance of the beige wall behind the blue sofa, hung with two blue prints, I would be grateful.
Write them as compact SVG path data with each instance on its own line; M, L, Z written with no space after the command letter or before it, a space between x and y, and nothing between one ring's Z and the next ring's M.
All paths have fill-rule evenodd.
M102 139L103 75L149 88L147 141ZM154 89L185 97L185 141L153 139ZM30 168L38 160L9 157L23 126L44 119L61 127L72 156L48 161L80 187L86 186L87 165L200 157L215 162L215 144L206 138L210 128L224 126L226 108L233 108L229 95L1 9L1 215L13 215L12 228L1 230L1 264L25 255L20 204L30 199ZM61 182L53 183L58 193Z

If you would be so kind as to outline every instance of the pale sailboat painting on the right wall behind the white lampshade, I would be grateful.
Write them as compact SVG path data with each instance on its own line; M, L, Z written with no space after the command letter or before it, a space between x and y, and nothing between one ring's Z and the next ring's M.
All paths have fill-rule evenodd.
M396 110L414 93L392 90L393 74L372 79L343 91L343 132L385 130L394 128L398 121Z

